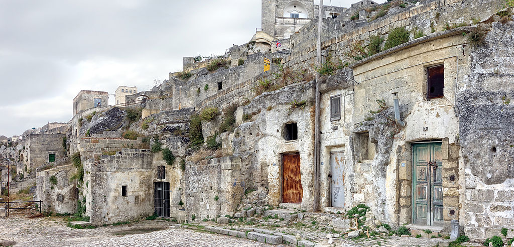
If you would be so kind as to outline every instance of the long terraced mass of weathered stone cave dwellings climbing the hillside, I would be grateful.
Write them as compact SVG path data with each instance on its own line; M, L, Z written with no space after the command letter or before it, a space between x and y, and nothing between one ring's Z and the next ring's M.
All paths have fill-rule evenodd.
M84 120L95 109L77 108L67 141L85 171L76 198L95 224L152 213L180 221L244 217L266 204L341 212L366 204L371 221L447 234L455 220L474 240L499 235L514 227L514 24L497 14L502 4L434 0L377 8L362 1L328 8L318 34L312 2L264 0L263 31L287 36L290 54L252 44L269 45L263 34L231 47L217 70L185 58L191 77L170 73L152 91L126 97L152 99L136 105L146 110L136 121L116 107ZM397 30L408 39L384 48ZM319 167L318 36L323 66L331 69L318 81ZM383 39L371 52L374 37ZM206 109L215 116L194 123ZM231 117L232 126L223 128ZM122 138L128 130L140 137ZM192 130L202 136L196 147ZM221 148L208 148L204 139ZM156 143L169 152L150 152ZM262 197L242 203L252 189ZM64 198L75 198L67 191Z

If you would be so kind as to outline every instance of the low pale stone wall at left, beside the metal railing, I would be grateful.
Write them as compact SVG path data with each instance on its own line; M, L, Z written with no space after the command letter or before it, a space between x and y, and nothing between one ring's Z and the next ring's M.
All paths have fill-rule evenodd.
M77 180L70 180L75 172L73 165L38 172L36 201L42 201L43 211L75 214L79 196L76 190Z

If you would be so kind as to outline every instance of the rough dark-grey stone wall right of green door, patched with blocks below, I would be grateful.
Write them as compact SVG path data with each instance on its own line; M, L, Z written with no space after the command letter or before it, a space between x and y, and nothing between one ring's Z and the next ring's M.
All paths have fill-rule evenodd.
M463 78L455 105L466 175L464 231L471 239L514 228L514 23L490 25L485 45L470 50L471 73Z

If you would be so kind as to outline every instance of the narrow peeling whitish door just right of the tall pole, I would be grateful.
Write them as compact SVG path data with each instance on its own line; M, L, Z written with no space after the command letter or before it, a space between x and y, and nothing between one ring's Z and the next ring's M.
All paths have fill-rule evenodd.
M344 151L330 153L331 201L333 207L344 207Z

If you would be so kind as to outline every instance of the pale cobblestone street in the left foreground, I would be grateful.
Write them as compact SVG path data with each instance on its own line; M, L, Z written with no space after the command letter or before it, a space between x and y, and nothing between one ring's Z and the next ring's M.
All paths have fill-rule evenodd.
M271 246L247 239L169 228L172 222L146 221L95 229L67 227L59 217L0 219L0 246ZM284 245L273 245L284 246Z

